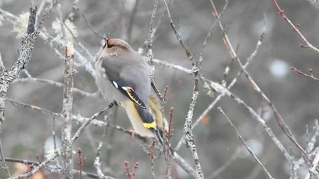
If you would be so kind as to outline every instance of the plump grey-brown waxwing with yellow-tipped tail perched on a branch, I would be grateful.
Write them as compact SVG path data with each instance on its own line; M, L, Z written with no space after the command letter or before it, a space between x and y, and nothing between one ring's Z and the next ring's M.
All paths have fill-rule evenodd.
M126 109L134 130L141 136L160 138L160 102L165 101L144 57L124 40L105 38L102 53L95 63L95 72L97 86L104 99Z

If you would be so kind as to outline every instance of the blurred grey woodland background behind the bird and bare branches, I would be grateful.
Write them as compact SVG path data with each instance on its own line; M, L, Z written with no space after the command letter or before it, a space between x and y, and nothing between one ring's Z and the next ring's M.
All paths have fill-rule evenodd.
M42 0L39 0L38 4ZM64 19L72 11L73 1L59 1L62 6ZM224 5L223 0L215 0L218 12ZM299 28L304 36L314 46L319 45L319 10L312 6L307 0L278 0L279 5L294 24L299 23ZM154 0L80 0L78 10L72 22L77 29L77 40L83 43L88 51L95 55L99 53L102 40L96 36L85 23L82 14L88 22L101 35L106 34L109 38L122 38L129 42L135 49L144 47L147 40L149 21L153 11ZM0 8L16 16L29 9L28 0L0 0ZM134 8L136 11L134 12ZM160 16L165 12L163 2L160 1L155 24L158 24ZM179 19L181 37L189 48L192 56L198 60L203 41L208 30L215 21L212 14L213 7L209 0L174 0L170 6L170 13L175 25ZM318 117L319 88L318 82L298 75L290 70L296 67L305 73L309 69L314 70L314 75L319 74L319 55L307 48L300 48L302 39L293 31L291 26L278 15L278 11L272 0L230 0L221 22L227 27L227 34L234 48L239 44L238 56L242 63L254 51L257 41L260 39L264 16L267 18L266 34L262 45L249 65L248 72L257 85L272 99L290 129L293 131L298 142L305 147L305 129L309 125L310 136L314 134L314 121ZM57 36L52 28L52 22L59 17L54 5L53 12L45 20L45 27L52 36ZM130 30L131 27L131 30ZM21 38L16 38L17 33L13 31L12 24L2 20L0 26L0 53L4 66L9 69L19 56ZM170 27L167 15L163 18L157 38L153 43L153 52L156 59L165 60L190 69L191 64L185 55L183 48L176 40L174 32ZM201 74L214 82L221 82L224 69L231 62L223 40L222 31L216 26L210 37L205 51L201 68ZM75 43L75 41L74 41ZM75 49L79 49L74 45ZM63 54L63 48L59 49ZM146 50L144 55L147 55ZM85 53L82 55L89 58ZM93 59L90 59L93 62ZM75 61L79 63L77 57ZM230 66L230 74L227 83L236 76L240 67L236 61ZM49 79L63 83L63 60L59 59L54 50L38 38L30 58L25 66L34 78ZM74 87L87 92L96 92L95 79L84 69L77 67ZM26 77L22 72L20 78ZM156 64L155 81L158 88L163 91L169 86L167 102L165 103L165 114L168 117L169 108L173 106L173 128L174 136L171 138L171 146L175 147L183 135L183 124L189 109L191 94L194 85L193 76L180 71ZM230 89L244 100L254 110L261 113L267 109L264 115L267 124L272 128L275 135L285 146L286 150L292 149L296 160L301 155L294 144L283 133L278 126L271 109L265 106L262 97L247 82L244 76L238 79L235 86ZM215 97L209 97L200 83L199 97L194 110L193 120L197 119ZM11 84L7 97L28 104L40 106L53 112L62 112L63 88L45 83L18 83ZM90 117L92 114L104 107L106 102L101 95L86 97L75 93L74 114ZM233 121L243 139L249 144L257 157L268 169L274 178L289 178L289 164L283 153L272 142L271 138L263 130L258 122L230 97L223 97L193 130L194 141L199 155L199 161L205 178L207 179L262 179L267 178L252 156L242 149L243 144L228 124L227 120L217 110L221 106L228 117ZM112 108L114 119L111 123L132 129L128 122L125 111L120 107ZM103 120L103 116L98 117ZM36 156L43 156L44 147L52 144L52 116L31 110L30 108L17 108L9 101L6 102L5 122L2 127L1 142L5 157L27 159L37 161ZM57 138L60 137L61 119L55 118L55 131ZM75 132L80 124L73 123ZM96 156L97 145L102 138L104 127L88 126L73 144L73 150L82 148L83 157L88 159L84 164L84 171L96 173L93 162ZM317 146L317 145L316 145ZM149 149L149 148L148 148ZM178 151L189 164L194 167L191 152L184 145ZM119 179L125 179L126 173L123 162L129 161L131 169L138 162L140 168L137 178L150 179L150 159L147 154L134 142L134 140L123 132L109 129L104 147L101 152L102 170L105 175ZM224 166L224 170L216 175L216 170ZM190 179L173 161L171 162L174 179ZM9 163L11 173L19 166ZM163 157L155 160L157 178L164 178ZM74 157L74 169L78 170L77 156ZM27 169L26 169L27 170ZM22 170L24 173L26 170ZM45 172L44 172L45 173ZM307 168L304 167L299 175L304 178ZM59 178L59 175L44 174L44 178ZM0 178L5 178L4 172L0 171Z

